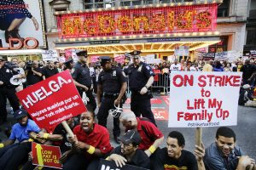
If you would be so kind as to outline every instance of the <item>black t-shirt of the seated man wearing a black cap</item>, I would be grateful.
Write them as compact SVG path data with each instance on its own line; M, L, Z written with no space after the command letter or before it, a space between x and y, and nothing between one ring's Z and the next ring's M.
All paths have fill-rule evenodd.
M116 147L112 152L109 154L117 154L119 156L125 157L121 152L121 146ZM143 167L143 168L149 168L150 167L150 160L149 157L146 155L146 153L143 150L136 150L136 153L132 157L132 160L129 162L125 162L128 165L133 165L136 167Z

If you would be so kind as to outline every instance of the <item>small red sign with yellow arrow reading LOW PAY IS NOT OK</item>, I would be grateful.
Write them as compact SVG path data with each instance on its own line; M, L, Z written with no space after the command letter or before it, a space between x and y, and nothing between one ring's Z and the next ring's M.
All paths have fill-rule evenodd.
M61 169L59 146L50 146L32 142L32 164L42 167L56 167Z

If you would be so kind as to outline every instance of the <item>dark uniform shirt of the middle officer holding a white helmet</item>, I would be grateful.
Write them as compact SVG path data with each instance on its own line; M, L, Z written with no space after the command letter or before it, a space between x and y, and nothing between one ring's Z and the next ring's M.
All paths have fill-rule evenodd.
M102 91L108 94L119 93L123 82L126 82L125 73L118 67L112 67L110 71L102 71L98 79Z

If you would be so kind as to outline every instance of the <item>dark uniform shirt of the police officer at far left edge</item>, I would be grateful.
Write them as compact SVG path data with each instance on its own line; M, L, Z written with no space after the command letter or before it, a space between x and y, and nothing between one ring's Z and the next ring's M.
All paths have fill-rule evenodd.
M0 88L15 88L15 86L12 85L9 80L16 74L18 74L18 72L13 71L6 65L3 65L3 67L0 69L0 81L3 82L3 85L0 85Z

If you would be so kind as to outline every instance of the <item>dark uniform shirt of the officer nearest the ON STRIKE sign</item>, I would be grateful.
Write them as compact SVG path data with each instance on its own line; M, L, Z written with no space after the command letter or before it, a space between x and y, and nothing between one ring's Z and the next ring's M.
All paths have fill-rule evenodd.
M140 62L139 65L129 65L125 69L125 74L129 76L131 91L140 91L148 82L149 77L154 76L152 68L146 63Z

